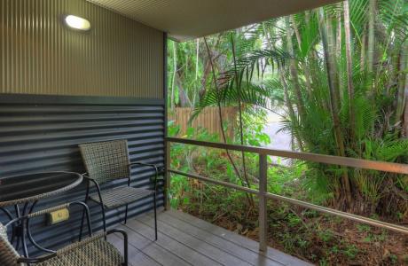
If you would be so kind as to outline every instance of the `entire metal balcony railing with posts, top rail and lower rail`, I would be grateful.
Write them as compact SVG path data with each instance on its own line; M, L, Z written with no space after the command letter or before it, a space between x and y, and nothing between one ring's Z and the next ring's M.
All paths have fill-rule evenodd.
M324 154L317 154L317 153L298 153L298 152L291 152L291 151L283 151L283 150L272 150L268 148L262 147L254 147L254 146L244 146L244 145L229 145L229 144L222 144L222 143L215 143L215 142L205 142L199 140L192 140L192 139L185 139L185 138L178 138L178 137L167 137L166 138L166 160L167 160L167 176L170 176L171 173L187 176L190 178L195 178L200 181L212 183L212 184L219 184L224 187L229 187L241 192L247 192L251 194L255 194L259 197L259 249L263 252L267 250L267 204L266 201L268 199L272 200L280 200L290 204L294 204L301 207L306 207L310 209L317 210L319 212L323 212L330 215L337 215L342 218L346 218L358 223L365 223L372 226L388 229L391 231L397 231L400 233L408 234L408 227L393 224L393 223L385 223L378 220L374 220L371 218L367 218L360 215L352 215L346 212L342 212L340 210L336 210L329 207L321 207L316 204L312 204L302 200L294 200L292 198L288 198L285 196L280 196L278 194L273 194L267 191L267 168L268 162L267 158L268 155L271 156L279 156L289 159L298 159L298 160L305 160L311 162L319 162L319 163L326 163L331 165L339 165L344 167L350 168L362 168L362 169L370 169L370 170L379 170L382 172L390 172L390 173L397 173L397 174L404 174L408 175L408 164L400 164L400 163L393 163L393 162L385 162L385 161L375 161L375 160L362 160L362 159L354 159L354 158L347 158L347 157L339 157L339 156L332 156L332 155L324 155ZM259 154L259 190L255 190L252 188L247 188L238 184L231 184L224 181L219 181L215 179L211 179L205 176L194 175L190 173L185 173L182 171L178 171L175 169L169 168L170 164L170 148L171 143L177 144L184 144L184 145L197 145L203 146L208 148L216 148L216 149L224 149L230 151L239 151L239 152L246 152L246 153L257 153ZM166 188L169 189L170 186L170 178L166 178ZM167 193L169 196L169 193ZM169 200L166 201L166 208L169 208Z

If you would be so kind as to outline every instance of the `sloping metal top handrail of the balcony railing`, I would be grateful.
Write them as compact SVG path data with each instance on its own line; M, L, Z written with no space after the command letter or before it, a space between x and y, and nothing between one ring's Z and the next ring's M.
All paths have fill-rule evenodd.
M271 156L279 156L290 159L307 160L312 162L320 162L331 165L341 165L350 168L362 168L370 170L378 170L382 172L390 172L397 174L408 175L408 164L378 161L378 160L364 160L349 157L325 155L318 153L300 153L285 150L273 150L263 147L244 146L244 145L231 145L216 142L207 142L179 137L167 137L167 141L185 145L198 145L216 149L226 149L231 151L258 153Z

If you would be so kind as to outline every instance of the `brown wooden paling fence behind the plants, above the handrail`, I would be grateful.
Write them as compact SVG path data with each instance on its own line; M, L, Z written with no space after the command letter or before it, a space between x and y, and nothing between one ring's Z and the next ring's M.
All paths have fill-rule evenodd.
M174 111L169 111L169 121L174 121L180 127L178 136L184 136L188 127L195 129L207 129L208 133L216 133L221 140L221 125L218 113L218 107L205 108L193 121L189 124L192 116L192 108L176 107ZM236 126L236 118L238 115L238 107L223 107L221 109L224 123L227 123L228 129L225 132L227 137L232 137L233 129Z

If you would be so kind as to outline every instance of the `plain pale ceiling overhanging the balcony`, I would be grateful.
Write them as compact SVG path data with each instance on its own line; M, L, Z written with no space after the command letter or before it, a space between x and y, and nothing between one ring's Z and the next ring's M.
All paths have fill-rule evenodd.
M179 41L215 34L339 0L88 0Z

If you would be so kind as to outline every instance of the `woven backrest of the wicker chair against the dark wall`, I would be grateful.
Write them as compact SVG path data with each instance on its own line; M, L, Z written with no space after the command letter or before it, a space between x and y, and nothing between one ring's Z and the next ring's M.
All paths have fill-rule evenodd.
M79 148L90 178L97 180L99 184L129 178L129 151L126 139L81 144Z

